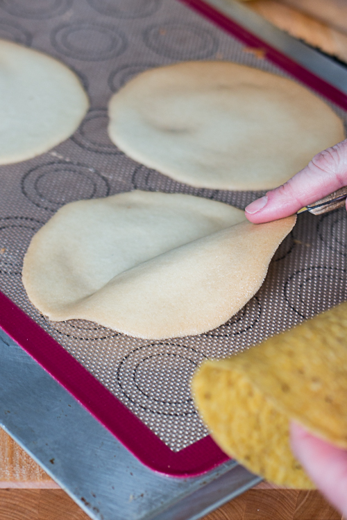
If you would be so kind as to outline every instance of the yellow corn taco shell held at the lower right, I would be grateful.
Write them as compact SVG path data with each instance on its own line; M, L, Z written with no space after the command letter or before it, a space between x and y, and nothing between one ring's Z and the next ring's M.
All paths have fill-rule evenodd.
M208 361L192 388L214 440L278 485L313 487L289 448L289 421L347 448L347 303L262 345Z

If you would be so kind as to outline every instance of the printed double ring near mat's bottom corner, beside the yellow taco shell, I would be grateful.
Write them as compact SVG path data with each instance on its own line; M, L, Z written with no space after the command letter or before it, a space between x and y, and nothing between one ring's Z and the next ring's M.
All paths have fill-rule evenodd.
M192 347L151 343L121 360L117 382L125 397L142 410L171 417L196 415L189 381L204 359L206 356Z

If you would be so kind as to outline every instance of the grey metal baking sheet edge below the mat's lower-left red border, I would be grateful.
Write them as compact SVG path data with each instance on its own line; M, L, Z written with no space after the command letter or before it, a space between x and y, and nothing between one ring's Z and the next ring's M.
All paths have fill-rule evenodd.
M0 424L94 520L194 520L260 482L233 461L169 478L141 464L0 331Z

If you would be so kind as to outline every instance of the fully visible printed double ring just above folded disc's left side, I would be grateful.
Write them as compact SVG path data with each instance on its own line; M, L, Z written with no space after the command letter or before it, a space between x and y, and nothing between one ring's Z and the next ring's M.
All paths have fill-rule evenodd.
M27 171L21 180L23 195L46 211L68 202L107 197L108 180L95 168L77 162L53 161Z

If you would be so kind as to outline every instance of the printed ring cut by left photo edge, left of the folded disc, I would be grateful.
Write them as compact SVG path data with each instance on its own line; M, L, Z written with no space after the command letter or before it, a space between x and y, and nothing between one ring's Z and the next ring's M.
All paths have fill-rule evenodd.
M31 217L0 218L0 275L22 275L24 254L43 225L43 221Z

